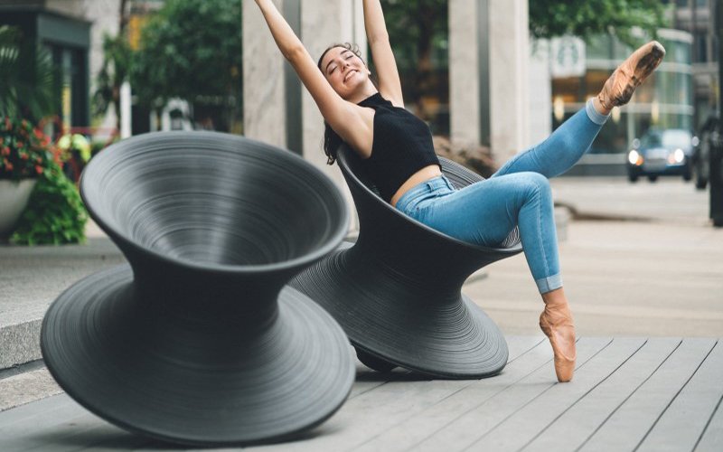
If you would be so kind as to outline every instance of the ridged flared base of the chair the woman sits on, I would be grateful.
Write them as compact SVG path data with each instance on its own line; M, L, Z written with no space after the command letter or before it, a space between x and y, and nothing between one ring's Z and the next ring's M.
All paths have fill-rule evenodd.
M357 350L382 363L445 379L492 376L507 363L502 332L461 287L440 296L436 287L410 286L349 244L289 285L333 315Z

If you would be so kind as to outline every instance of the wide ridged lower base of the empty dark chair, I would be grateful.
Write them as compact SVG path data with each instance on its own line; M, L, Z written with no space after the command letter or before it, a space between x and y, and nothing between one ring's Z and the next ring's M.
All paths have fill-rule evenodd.
M328 419L351 391L342 329L291 287L256 333L145 308L124 265L71 286L42 323L55 380L121 428L188 445L276 442Z

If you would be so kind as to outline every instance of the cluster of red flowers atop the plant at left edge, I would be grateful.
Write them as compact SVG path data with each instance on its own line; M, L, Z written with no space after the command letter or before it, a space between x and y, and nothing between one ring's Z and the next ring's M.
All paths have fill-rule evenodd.
M0 179L37 177L60 156L51 139L26 119L0 118Z

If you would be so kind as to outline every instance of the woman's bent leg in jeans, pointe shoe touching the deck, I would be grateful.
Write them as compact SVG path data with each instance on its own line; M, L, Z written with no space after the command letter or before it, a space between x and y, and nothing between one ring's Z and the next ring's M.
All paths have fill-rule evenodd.
M545 310L540 328L555 354L559 381L572 379L575 327L562 288L558 239L549 180L542 174L501 175L421 201L402 197L397 208L427 226L470 243L495 247L515 226Z

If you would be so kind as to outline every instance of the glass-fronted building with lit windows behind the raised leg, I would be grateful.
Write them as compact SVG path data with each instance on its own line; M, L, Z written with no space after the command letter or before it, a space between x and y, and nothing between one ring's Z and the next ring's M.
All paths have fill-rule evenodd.
M624 155L635 138L650 127L695 128L693 37L681 30L660 30L658 39L666 49L661 66L635 90L630 103L613 110L612 118L600 131L570 174L624 174ZM585 46L584 72L574 77L552 79L552 127L583 108L595 96L621 61L633 51L610 35L600 35ZM556 55L550 55L556 58Z

